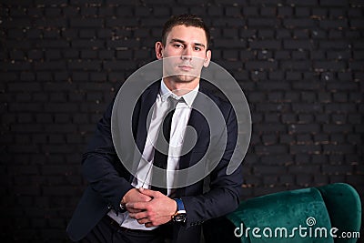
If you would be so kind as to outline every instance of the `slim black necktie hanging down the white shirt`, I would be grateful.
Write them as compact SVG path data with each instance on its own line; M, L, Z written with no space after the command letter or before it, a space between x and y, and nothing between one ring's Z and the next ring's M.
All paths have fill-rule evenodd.
M163 173L157 173L155 167L152 169L152 190L160 191L161 193L167 195L167 159L168 159L168 148L169 148L169 137L170 129L172 124L172 116L175 113L177 103L181 101L177 100L171 96L167 98L168 109L167 116L163 120L163 126L159 128L158 137L156 141L156 147L154 149L154 161L153 165L156 167L163 168ZM161 187L153 186L156 181L162 182ZM158 183L160 185L160 183Z

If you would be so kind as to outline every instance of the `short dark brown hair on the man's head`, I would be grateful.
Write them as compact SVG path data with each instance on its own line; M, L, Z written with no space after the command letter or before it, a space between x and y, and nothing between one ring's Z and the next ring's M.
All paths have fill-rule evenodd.
M210 30L208 29L205 22L202 18L197 15L177 15L170 17L166 24L163 26L162 31L162 44L166 46L167 43L167 35L171 31L171 29L176 25L186 25L186 26L194 26L197 28L202 28L205 31L206 39L207 39L207 49L210 46Z

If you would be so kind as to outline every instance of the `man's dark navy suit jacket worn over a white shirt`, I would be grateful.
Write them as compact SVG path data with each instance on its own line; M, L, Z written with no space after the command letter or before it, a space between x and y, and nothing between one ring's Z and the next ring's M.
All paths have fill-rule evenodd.
M143 151L147 138L147 113L157 98L160 83L149 86L139 98L132 118L132 131L136 138L136 146ZM173 223L173 242L198 242L201 224L209 218L217 218L238 207L239 190L242 184L241 167L231 175L226 175L227 165L236 146L238 125L232 107L217 96L211 95L207 90L200 91L206 96L198 94L195 101L198 109L208 109L207 97L210 98L221 111L226 121L221 128L210 131L207 120L196 109L191 111L187 126L194 127L197 131L195 147L179 159L179 168L196 165L207 152L205 165L214 159L214 153L223 149L223 156L217 167L210 173L210 190L203 194L203 180L187 187L177 188L177 197L180 197L187 211L185 224ZM86 236L97 222L103 218L109 209L120 211L119 203L125 193L133 188L133 176L119 161L113 145L111 125L112 105L108 106L105 115L97 124L96 135L87 147L83 157L83 173L90 185L86 188L71 219L67 233L73 240ZM122 125L120 125L122 126ZM227 131L227 145L219 141L218 137ZM210 139L211 137L211 139ZM215 139L217 137L217 139ZM188 136L185 137L185 140ZM130 153L130 151L125 151ZM137 162L136 162L137 165ZM184 178L181 178L184 179ZM162 226L163 227L163 226Z

